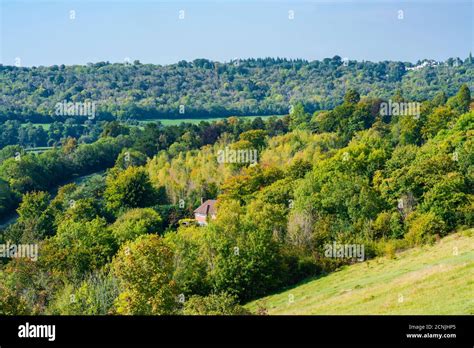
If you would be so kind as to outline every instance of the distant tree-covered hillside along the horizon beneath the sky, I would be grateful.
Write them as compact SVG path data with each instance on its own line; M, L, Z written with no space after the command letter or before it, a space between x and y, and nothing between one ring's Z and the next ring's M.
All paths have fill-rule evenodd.
M332 109L349 87L362 96L389 98L400 89L408 100L425 100L439 91L451 96L463 83L473 89L472 81L471 57L416 64L335 56L312 62L196 59L167 66L138 61L33 68L0 65L0 120L50 122L56 117L56 103L65 100L95 102L102 119L282 115L297 102L310 112Z

